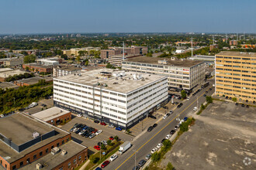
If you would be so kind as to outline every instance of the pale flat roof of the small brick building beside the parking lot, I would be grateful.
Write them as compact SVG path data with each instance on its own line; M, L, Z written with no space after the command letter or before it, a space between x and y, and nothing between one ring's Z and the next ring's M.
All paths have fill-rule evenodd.
M33 117L37 117L42 121L50 121L67 113L70 113L70 111L61 109L59 107L51 107L50 109L33 114Z

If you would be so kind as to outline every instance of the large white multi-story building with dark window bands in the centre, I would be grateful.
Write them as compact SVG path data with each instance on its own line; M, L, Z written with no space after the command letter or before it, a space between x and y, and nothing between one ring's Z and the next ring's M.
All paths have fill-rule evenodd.
M167 76L101 69L54 78L55 106L122 128L167 101Z

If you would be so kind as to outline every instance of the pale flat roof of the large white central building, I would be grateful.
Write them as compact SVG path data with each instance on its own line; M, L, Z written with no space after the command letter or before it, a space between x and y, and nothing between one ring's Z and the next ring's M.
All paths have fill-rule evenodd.
M107 78L105 76L101 76L101 72L112 73L112 76ZM125 76L116 77L113 76L113 73L125 73ZM102 86L102 89L105 90L112 90L120 93L129 93L137 88L144 87L148 83L153 83L157 80L163 79L166 76L160 76L156 74L148 74L148 73L137 73L137 75L141 75L144 78L140 80L133 80L133 75L136 74L135 72L125 72L125 71L115 71L112 69L99 69L99 70L89 70L85 73L81 73L81 76L76 74L67 75L67 76L60 76L54 78L54 80L65 80L68 82L74 82L79 84L88 85L90 87L94 86L96 88L100 88L97 84L107 85L107 87Z

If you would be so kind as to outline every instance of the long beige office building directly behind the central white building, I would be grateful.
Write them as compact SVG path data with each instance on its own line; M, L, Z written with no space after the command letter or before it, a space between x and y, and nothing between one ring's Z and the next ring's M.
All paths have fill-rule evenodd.
M168 86L192 90L205 80L205 64L199 60L159 59L137 56L122 63L123 70L168 76Z

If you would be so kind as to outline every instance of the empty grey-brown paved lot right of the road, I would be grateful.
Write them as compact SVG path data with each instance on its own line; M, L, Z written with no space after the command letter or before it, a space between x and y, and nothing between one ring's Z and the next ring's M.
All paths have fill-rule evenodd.
M161 167L176 169L255 169L256 108L214 100L176 141Z

